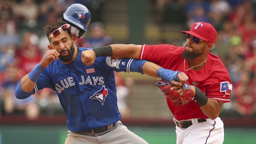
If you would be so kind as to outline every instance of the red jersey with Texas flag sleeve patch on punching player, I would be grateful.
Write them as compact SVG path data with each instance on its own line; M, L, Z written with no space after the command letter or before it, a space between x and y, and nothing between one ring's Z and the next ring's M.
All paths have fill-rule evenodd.
M221 60L208 54L207 62L201 70L187 70L188 60L181 58L185 47L176 47L170 44L143 45L139 59L148 60L162 66L165 69L182 71L188 76L187 83L198 87L207 97L220 102L230 102L232 84L228 70ZM208 118L201 111L199 105L193 101L183 106L176 106L174 102L166 98L167 105L178 121L191 118Z

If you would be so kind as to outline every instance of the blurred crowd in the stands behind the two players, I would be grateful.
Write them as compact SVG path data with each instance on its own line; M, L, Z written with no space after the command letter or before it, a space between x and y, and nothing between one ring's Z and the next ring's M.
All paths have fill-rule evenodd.
M89 25L92 35L79 39L77 46L95 48L111 44L111 37L106 35L102 21L102 7L107 0L0 0L0 116L25 114L27 118L35 119L42 113L63 114L58 96L50 89L41 90L25 100L16 99L14 90L18 80L40 62L47 50L49 42L43 26L54 18L60 18L65 8L74 2L87 6L93 17ZM212 53L222 59L233 82L231 102L224 105L224 114L255 117L256 1L151 2L156 5L156 22L160 26L178 24L184 30L196 21L214 25L218 37ZM180 44L184 41L185 38ZM122 79L118 75L117 78ZM121 90L129 95L133 81L127 84L122 80L121 84ZM126 103L120 105L127 107ZM124 113L129 116L129 108Z

